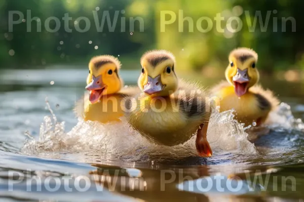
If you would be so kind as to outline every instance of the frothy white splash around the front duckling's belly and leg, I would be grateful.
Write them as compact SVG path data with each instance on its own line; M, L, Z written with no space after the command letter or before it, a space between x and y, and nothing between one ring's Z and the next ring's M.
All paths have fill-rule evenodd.
M120 123L100 124L83 121L71 131L65 132L64 122L58 122L50 108L51 116L46 116L41 124L38 140L26 141L22 152L41 157L60 157L65 153L81 153L95 159L121 159L125 161L148 161L162 159L182 159L196 155L195 135L183 144L164 146L149 142L132 130L126 120ZM214 154L231 151L255 154L255 146L247 140L248 134L243 124L234 120L233 111L212 113L207 138Z

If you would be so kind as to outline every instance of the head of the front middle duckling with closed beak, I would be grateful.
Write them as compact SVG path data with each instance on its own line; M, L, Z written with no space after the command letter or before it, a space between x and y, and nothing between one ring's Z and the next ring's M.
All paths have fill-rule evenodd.
M175 58L167 51L149 51L140 60L139 88L148 96L168 96L176 91Z

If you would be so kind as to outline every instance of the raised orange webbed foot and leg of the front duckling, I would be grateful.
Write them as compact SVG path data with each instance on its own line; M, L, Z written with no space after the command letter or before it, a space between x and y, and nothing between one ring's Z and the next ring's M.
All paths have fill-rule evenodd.
M207 129L208 123L201 124L198 129L198 134L196 138L196 148L199 156L201 157L211 157L212 149L207 141Z

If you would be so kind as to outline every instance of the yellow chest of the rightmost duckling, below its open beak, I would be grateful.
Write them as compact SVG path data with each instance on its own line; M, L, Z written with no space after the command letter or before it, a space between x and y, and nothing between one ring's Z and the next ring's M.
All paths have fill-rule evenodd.
M234 87L229 86L217 92L216 96L220 99L220 112L234 109L235 118L245 125L263 121L268 115L268 111L259 108L258 99L250 90L239 97L235 94Z

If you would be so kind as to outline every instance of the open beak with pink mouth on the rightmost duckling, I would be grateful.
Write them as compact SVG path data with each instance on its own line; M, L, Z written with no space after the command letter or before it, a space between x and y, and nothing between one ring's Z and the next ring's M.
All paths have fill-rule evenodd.
M240 97L248 90L248 83L250 77L248 76L248 69L240 70L238 68L237 74L232 78L235 84L235 93Z

